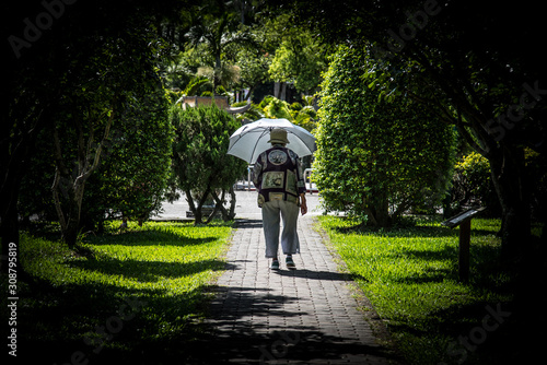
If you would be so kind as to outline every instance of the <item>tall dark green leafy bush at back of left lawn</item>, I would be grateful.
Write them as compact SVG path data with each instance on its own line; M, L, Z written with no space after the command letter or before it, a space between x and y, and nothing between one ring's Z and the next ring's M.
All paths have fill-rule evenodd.
M124 131L113 133L104 163L86 188L82 219L89 228L120 216L142 223L161 210L174 137L168 105L159 91L124 115Z

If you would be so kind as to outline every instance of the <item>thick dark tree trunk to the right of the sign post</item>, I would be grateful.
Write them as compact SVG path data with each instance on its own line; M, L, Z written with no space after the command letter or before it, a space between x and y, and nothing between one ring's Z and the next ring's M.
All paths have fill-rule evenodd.
M526 254L531 237L531 197L522 149L504 149L490 158L492 182L502 209L501 256Z

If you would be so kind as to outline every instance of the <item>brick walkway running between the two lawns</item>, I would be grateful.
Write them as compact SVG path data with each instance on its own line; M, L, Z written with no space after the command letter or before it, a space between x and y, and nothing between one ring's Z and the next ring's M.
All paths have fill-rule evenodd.
M240 221L206 323L210 338L196 343L193 364L398 364L357 309L313 222L299 219L298 270L281 257L271 271L261 221Z

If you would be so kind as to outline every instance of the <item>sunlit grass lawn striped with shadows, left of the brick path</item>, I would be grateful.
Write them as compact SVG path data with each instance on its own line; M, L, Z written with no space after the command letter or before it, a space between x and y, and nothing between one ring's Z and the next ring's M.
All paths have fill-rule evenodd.
M20 355L49 364L184 360L207 287L224 269L231 225L149 222L119 232L119 224L88 235L77 252L22 235L31 279L18 287Z

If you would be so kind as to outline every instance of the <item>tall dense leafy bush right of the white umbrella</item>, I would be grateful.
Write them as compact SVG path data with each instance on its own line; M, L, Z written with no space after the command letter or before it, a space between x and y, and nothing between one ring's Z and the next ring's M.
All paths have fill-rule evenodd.
M408 98L381 99L363 82L372 67L356 49L341 47L333 57L321 93L313 178L327 210L385 226L412 207L442 201L454 134Z

